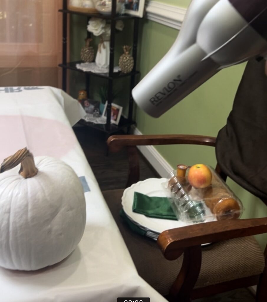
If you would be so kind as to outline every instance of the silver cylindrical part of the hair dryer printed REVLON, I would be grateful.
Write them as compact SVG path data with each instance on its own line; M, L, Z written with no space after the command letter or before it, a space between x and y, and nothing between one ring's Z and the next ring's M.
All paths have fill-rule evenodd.
M219 65L194 44L176 57L164 57L133 89L138 106L153 117L173 107L178 101L213 76Z

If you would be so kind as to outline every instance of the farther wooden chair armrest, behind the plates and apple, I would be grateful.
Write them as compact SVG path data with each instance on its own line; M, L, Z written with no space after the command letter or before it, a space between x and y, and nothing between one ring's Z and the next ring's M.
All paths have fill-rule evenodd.
M112 135L107 144L111 152L117 152L124 146L151 146L190 144L215 146L216 138L202 135Z

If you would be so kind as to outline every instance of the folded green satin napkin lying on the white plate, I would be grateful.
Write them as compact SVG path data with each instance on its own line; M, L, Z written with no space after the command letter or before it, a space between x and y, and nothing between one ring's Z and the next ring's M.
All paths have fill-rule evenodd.
M148 217L177 220L167 197L149 197L135 192L132 210Z

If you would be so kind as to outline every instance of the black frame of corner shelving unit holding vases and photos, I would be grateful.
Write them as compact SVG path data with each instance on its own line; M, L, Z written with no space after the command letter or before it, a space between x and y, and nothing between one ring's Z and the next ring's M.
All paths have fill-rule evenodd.
M138 41L138 25L139 25L139 18L134 17L131 15L117 15L116 14L116 0L112 0L112 11L111 15L102 15L102 14L86 14L82 12L70 11L68 10L67 0L62 0L63 8L59 10L63 14L62 22L63 22L63 37L62 37L62 63L59 64L62 67L62 89L66 91L67 88L67 69L75 70L77 72L82 72L85 74L85 82L86 82L86 90L89 95L89 85L90 85L90 77L96 76L104 78L108 81L108 99L107 99L107 120L106 124L93 124L90 122L86 122L85 120L80 120L80 124L83 124L88 127L92 127L94 129L100 130L105 132L107 136L112 133L116 133L119 130L127 128L127 132L129 132L130 126L135 124L135 121L132 119L133 113L133 98L132 98L132 89L135 86L135 78L139 72L136 70L136 58L137 58L137 41ZM81 63L81 61L76 62L67 62L67 15L68 14L78 14L86 18L87 23L88 20L92 17L95 18L102 18L110 20L111 26L111 35L110 35L110 66L108 73L94 73L94 72L84 72L81 69L76 68L77 63ZM122 72L113 72L114 69L114 52L115 52L115 26L117 20L126 20L131 19L133 20L133 45L132 45L132 56L134 58L134 67L132 72L130 73L122 73ZM90 33L87 32L88 37ZM128 117L125 118L121 116L119 125L111 124L110 117L111 117L111 103L113 101L113 81L118 80L123 77L130 78L130 91L129 91L129 111Z

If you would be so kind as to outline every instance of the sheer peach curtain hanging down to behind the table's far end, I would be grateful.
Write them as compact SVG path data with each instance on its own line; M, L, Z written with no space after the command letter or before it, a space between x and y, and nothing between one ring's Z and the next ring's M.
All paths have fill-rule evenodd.
M0 0L0 86L61 87L61 0Z

